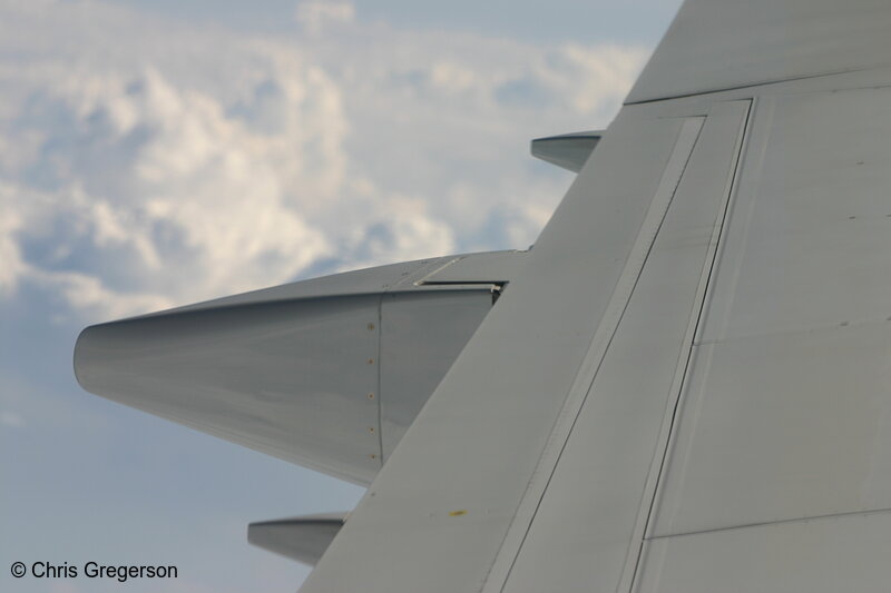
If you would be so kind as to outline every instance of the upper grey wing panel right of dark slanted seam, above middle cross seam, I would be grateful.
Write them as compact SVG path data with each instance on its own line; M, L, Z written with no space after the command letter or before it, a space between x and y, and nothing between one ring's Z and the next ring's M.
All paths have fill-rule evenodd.
M763 100L702 340L891 315L891 89Z

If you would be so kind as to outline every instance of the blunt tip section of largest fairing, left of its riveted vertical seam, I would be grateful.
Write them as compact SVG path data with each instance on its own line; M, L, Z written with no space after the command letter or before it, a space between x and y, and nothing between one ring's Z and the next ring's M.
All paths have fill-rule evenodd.
M84 388L353 482L380 467L379 296L263 303L92 326ZM374 394L370 397L370 394Z

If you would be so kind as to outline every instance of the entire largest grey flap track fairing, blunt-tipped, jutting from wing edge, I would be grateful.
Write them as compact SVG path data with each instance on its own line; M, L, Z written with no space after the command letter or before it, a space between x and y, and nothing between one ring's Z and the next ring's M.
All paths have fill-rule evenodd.
M75 370L92 393L368 484L521 258L384 266L94 326ZM467 280L432 281L453 260Z

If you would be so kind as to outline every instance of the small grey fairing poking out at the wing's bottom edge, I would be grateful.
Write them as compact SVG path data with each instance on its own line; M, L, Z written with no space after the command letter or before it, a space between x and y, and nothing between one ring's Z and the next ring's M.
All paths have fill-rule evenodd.
M346 513L325 513L252 523L247 526L247 541L263 550L315 566L344 521Z

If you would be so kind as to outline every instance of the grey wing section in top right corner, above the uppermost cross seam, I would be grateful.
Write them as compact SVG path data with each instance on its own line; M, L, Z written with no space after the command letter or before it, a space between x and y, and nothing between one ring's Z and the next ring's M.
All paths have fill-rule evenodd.
M891 63L887 0L687 0L627 102Z

